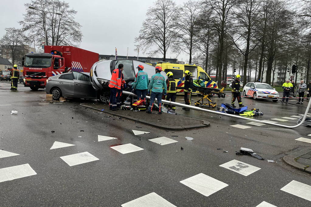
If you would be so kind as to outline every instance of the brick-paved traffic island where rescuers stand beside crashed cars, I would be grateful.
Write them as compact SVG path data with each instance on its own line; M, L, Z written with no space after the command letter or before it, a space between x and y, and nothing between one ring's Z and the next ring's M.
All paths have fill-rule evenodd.
M135 112L133 110L111 111L109 106L103 103L81 103L83 107L92 108L97 111L111 114L116 117L122 117L132 121L139 121L142 124L154 126L165 130L189 130L210 126L210 122L197 120L189 117L173 115L168 113L148 114L145 111Z

